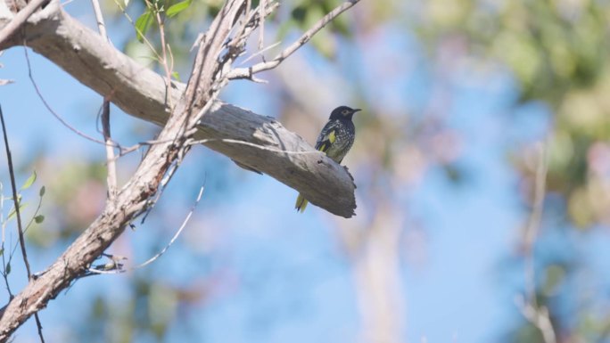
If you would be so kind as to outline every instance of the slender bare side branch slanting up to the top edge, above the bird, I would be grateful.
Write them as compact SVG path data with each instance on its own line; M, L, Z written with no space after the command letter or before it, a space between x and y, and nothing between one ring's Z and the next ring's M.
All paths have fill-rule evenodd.
M336 7L333 11L326 14L322 19L318 20L317 23L308 29L297 41L295 41L292 45L288 46L284 49L282 53L279 53L273 60L271 61L263 61L258 64L255 64L249 68L237 68L232 69L227 74L227 78L229 79L239 79L239 78L252 78L254 74L260 73L261 71L274 69L276 68L282 61L284 61L288 56L293 54L295 51L299 50L299 48L309 40L314 37L320 29L323 29L330 21L334 20L339 14L347 11L354 4L358 4L360 0L349 0L340 6Z

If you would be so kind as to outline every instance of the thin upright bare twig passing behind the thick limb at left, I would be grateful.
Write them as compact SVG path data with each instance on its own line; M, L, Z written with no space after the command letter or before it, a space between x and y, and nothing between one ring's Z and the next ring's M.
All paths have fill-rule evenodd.
M102 8L98 0L91 0L95 12L95 20L97 21L97 29L100 31L100 35L104 37L108 42L110 38L106 32L106 25L103 20ZM108 184L108 199L113 200L117 194L117 164L114 157L114 146L111 138L111 126L110 126L110 100L104 98L102 104L102 133L103 141L106 149L106 167L108 168L108 174L106 175L106 184Z

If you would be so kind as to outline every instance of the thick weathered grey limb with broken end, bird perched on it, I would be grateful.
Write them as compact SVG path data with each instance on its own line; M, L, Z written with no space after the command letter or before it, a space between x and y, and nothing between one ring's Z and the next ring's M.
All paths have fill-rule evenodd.
M0 27L4 24L0 16ZM23 43L23 37L14 36L0 49ZM177 104L185 89L184 84L175 83L166 92L160 75L120 53L55 2L30 17L25 44L121 110L161 126L169 118L169 105ZM218 102L199 128L195 138L205 139L210 149L276 178L337 216L353 216L355 185L349 172L275 119ZM263 148L223 141L227 139Z

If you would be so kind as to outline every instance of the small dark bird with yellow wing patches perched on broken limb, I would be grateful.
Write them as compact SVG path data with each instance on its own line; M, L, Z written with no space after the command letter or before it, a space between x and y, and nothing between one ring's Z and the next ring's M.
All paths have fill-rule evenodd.
M347 106L339 106L331 112L328 122L317 136L316 150L326 153L326 156L337 163L341 163L345 155L350 151L356 138L356 128L351 118L360 109L351 109ZM308 200L299 193L297 197L297 212L305 211Z

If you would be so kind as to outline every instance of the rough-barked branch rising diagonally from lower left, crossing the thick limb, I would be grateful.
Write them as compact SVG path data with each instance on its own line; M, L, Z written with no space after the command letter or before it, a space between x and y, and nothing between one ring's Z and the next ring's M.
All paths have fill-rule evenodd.
M240 3L237 0L227 2L211 29L226 31L240 14ZM177 108L180 110L173 110L169 115L158 137L160 143L151 146L128 183L117 192L116 197L106 201L103 213L95 222L53 265L36 278L30 278L25 289L4 308L0 318L0 341L9 339L12 332L29 316L37 314L71 282L87 274L89 266L119 237L125 227L149 208L164 176L190 148L189 141L193 139L191 136L194 127L208 111L208 103L211 104L218 94L218 82L221 80L214 78L214 71L223 67L218 58L223 49L217 39L223 37L202 44L195 60L199 64L195 64L185 97L178 103ZM188 97L188 94L194 95Z

